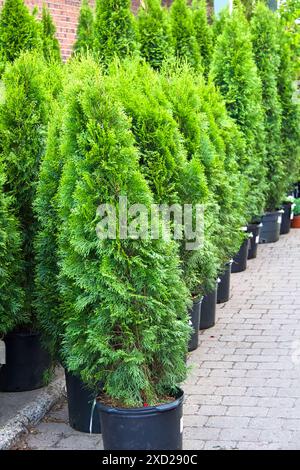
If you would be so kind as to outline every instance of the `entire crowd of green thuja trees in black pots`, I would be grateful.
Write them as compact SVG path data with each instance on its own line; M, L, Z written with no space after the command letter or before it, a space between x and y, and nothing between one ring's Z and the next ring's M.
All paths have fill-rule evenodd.
M96 30L114 41L99 33L96 56L83 54L81 21L78 57L47 63L35 48L2 76L0 389L38 388L60 363L76 429L102 427L106 449L180 449L188 348L228 300L231 270L245 269L259 239L279 237L299 175L299 114L288 36L265 5L249 24L237 4L212 28L203 2L194 17L175 0L177 42L162 58L154 18L167 28L168 16L147 2L144 59L131 53L132 16L120 5L126 27L97 4ZM125 209L136 236L118 225L102 238L99 206L119 215L120 197L146 210ZM190 204L193 220L204 206L202 243L186 249L183 231L143 236L154 204ZM157 224L182 229L175 215Z

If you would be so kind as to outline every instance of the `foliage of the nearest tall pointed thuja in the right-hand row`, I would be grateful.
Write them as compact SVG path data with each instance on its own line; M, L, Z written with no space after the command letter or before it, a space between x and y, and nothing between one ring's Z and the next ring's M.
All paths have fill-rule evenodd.
M243 133L247 153L240 171L251 188L246 196L249 219L264 210L265 132L261 81L254 62L248 23L240 8L227 15L218 37L211 65L211 77L219 87L229 115Z

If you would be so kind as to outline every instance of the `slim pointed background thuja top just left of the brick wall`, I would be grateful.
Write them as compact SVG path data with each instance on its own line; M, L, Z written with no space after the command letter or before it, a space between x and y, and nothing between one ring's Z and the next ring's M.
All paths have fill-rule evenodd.
M41 33L44 58L47 62L53 60L60 61L60 45L58 39L55 37L56 28L45 4L43 4L42 10Z

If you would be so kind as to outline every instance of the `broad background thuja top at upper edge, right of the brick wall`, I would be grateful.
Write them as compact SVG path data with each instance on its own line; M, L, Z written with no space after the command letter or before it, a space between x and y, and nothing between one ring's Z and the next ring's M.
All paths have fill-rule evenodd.
M96 0L94 50L108 65L117 56L132 55L137 49L134 16L129 0Z

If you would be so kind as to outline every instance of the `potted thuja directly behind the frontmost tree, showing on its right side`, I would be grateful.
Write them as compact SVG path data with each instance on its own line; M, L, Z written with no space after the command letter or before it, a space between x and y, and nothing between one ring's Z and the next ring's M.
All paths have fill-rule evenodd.
M206 280L207 274L201 243L203 223L200 220L203 218L200 206L208 201L204 170L199 160L187 158L160 74L144 62L128 61L111 68L109 83L132 118L132 131L141 153L140 168L154 200L161 208L165 206L174 235L177 229L182 235L181 239L175 238L180 248L183 278L194 301L189 312L194 330L189 350L193 350L198 345L202 281ZM186 217L183 213L185 204L192 205L192 236L193 240L199 240L199 244L196 240L196 243L190 243L192 240L186 226L181 230ZM209 260L208 256L206 260ZM214 264L213 254L211 263Z

